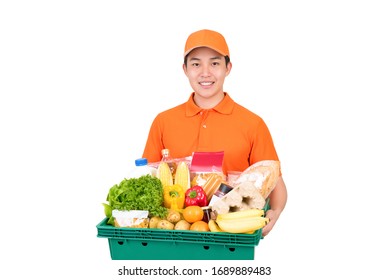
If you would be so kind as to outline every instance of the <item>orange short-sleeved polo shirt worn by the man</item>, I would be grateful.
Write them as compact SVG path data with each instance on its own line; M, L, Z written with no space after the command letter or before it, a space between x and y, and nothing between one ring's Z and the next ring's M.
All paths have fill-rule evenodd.
M154 119L143 152L149 162L161 160L168 148L173 158L193 152L224 151L223 172L243 171L261 160L278 160L272 137L261 117L235 103L225 93L212 109L193 100L159 113Z

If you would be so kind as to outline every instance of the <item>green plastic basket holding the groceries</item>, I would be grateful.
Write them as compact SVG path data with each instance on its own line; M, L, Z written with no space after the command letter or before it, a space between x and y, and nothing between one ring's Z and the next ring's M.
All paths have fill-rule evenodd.
M107 220L96 226L97 237L108 239L112 260L253 260L255 246L262 239L262 229L232 234L119 228Z

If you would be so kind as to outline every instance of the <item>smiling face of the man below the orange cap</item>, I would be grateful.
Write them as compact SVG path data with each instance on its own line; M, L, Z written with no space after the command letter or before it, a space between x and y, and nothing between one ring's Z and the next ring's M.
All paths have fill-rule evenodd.
M224 96L224 79L231 70L231 63L226 65L224 56L210 48L196 48L189 53L187 65L183 68L190 85L200 98Z

